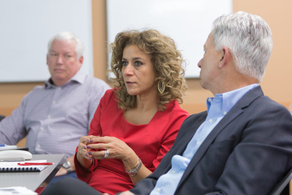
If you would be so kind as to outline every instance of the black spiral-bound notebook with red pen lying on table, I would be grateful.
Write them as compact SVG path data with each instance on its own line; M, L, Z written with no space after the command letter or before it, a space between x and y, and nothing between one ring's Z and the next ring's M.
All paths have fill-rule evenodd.
M1 172L41 172L48 165L29 165L22 166L17 163L46 163L47 160L40 161L19 161L19 162L0 162L0 173Z

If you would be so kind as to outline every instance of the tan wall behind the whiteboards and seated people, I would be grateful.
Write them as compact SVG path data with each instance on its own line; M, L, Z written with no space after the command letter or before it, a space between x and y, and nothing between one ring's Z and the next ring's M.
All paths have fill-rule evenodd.
M265 95L288 108L292 101L292 82L290 80L292 37L289 36L292 30L290 23L292 1L234 0L233 7L234 12L242 10L258 14L270 25L274 46L261 86ZM92 9L94 75L107 81L105 76L107 68L105 0L93 0ZM182 107L190 114L204 111L206 98L212 94L200 87L199 79L188 79L187 83L189 95L184 97ZM41 82L0 83L0 114L9 115L27 92L32 90L35 85L41 84Z

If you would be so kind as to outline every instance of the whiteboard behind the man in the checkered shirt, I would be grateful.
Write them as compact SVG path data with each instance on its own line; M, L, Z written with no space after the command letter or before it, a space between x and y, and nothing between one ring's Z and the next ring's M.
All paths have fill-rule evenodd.
M91 0L1 0L0 25L0 82L48 80L48 41L65 30L84 43L81 70L93 75Z

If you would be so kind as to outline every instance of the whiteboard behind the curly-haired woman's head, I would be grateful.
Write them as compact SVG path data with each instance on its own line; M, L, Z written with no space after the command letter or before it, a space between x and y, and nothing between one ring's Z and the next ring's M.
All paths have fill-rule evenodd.
M212 23L232 11L232 0L107 0L108 42L123 30L154 28L177 43L187 63L185 77L199 77Z

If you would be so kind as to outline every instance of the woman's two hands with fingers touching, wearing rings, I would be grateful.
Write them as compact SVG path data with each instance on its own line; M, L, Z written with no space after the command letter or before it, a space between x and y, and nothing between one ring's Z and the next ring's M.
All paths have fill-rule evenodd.
M129 158L131 154L134 153L134 151L124 141L109 136L82 136L80 138L78 148L80 154L88 160L105 159L105 150L109 153L107 158L122 160ZM90 149L96 149L97 151L92 151Z

